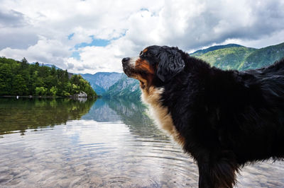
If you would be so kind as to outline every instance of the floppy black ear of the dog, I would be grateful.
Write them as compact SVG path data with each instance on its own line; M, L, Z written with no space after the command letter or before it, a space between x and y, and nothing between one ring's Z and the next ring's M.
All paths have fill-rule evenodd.
M177 47L167 49L163 48L158 54L160 62L158 64L157 76L161 81L169 81L175 75L180 73L185 67L185 61L182 59L181 52Z

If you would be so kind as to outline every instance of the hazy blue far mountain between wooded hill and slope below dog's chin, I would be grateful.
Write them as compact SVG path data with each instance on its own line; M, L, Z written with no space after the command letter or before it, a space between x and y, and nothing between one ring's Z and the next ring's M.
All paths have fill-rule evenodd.
M103 95L110 86L119 81L122 73L116 72L97 72L96 74L81 74L81 76L89 81L92 88L98 95Z

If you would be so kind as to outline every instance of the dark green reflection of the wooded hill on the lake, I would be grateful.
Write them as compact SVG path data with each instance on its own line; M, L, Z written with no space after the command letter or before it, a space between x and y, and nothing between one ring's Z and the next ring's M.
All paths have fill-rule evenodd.
M70 119L80 119L94 100L0 98L0 134L53 127Z

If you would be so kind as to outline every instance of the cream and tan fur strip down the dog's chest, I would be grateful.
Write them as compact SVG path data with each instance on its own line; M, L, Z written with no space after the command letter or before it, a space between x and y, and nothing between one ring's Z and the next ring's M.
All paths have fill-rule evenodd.
M163 88L154 88L151 86L148 90L142 89L142 100L150 106L151 115L154 117L158 127L183 147L185 145L185 139L180 135L177 129L175 129L172 116L168 113L168 107L164 107L160 102L162 93Z

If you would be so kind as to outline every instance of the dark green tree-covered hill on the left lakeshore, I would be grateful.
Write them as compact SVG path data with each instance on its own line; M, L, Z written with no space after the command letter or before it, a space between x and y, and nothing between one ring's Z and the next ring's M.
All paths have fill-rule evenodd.
M55 66L0 57L0 95L70 96L84 91L96 97L92 87L80 75L69 74Z

